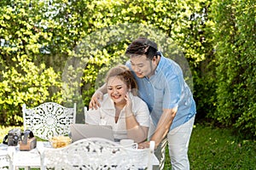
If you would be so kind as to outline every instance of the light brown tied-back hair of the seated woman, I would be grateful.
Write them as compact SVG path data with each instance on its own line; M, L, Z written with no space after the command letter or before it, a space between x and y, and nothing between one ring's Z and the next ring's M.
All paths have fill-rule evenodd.
M107 83L110 77L119 77L121 81L125 82L128 88L131 88L132 94L137 95L137 82L128 67L125 65L117 65L111 68L107 73Z

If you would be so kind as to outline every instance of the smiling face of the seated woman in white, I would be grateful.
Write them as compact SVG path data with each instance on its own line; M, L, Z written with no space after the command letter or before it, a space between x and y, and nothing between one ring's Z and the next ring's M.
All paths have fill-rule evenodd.
M128 92L128 87L125 82L121 81L119 77L109 77L107 86L108 96L113 99L113 102L115 104L125 105L125 95Z

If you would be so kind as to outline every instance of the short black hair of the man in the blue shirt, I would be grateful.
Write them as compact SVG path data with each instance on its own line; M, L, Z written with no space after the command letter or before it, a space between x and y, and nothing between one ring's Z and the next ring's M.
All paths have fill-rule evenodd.
M147 55L147 59L153 59L157 53L157 44L148 40L146 37L139 37L137 40L131 42L125 51L125 55L136 56L136 55Z

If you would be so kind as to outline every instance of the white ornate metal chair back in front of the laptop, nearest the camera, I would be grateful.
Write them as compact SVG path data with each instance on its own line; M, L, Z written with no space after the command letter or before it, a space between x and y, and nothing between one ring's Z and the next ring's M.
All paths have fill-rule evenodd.
M40 151L41 169L152 169L154 142L143 150L128 149L108 139L81 139L64 148Z

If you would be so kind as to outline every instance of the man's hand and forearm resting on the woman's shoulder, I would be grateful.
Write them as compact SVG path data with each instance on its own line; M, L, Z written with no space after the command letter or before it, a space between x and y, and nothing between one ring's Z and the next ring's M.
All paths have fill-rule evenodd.
M103 84L101 88L98 88L95 93L91 96L89 109L97 109L101 107L99 100L103 99L103 95L108 93L107 84Z

